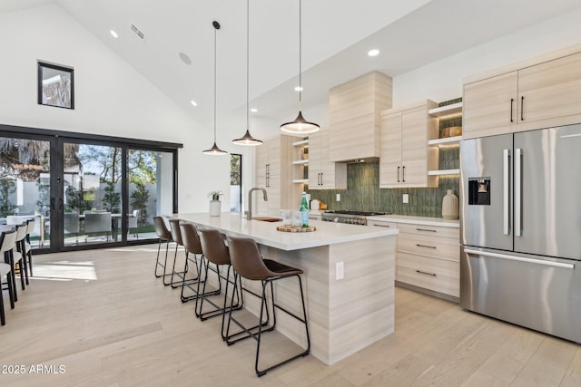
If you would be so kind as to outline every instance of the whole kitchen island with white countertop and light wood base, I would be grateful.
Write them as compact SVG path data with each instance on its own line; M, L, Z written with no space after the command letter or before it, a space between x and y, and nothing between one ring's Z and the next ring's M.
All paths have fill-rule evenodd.
M216 228L231 237L251 237L265 258L302 269L311 353L320 361L336 363L393 333L397 230L312 221L314 232L287 233L277 231L281 222L246 220L238 213L175 214L173 218ZM296 286L277 285L277 303L298 312ZM260 302L253 298L246 297L246 307L257 313ZM306 346L300 324L283 313L277 314L277 329Z

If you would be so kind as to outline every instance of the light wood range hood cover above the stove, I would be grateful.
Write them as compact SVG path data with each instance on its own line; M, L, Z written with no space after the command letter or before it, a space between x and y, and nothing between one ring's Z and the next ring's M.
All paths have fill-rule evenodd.
M379 157L380 112L391 107L391 91L391 78L378 72L330 90L330 161Z

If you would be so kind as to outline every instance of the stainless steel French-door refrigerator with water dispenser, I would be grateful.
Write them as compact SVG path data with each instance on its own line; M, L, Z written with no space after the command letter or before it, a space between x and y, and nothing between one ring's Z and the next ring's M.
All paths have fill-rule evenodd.
M581 343L581 124L460 142L460 305Z

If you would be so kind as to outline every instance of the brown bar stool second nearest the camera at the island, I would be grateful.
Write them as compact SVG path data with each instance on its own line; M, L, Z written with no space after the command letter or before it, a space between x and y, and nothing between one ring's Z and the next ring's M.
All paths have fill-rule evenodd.
M201 265L201 272L204 273L204 281L202 292L198 290L198 294L200 296L196 299L195 314L196 317L200 318L200 320L202 321L207 320L208 318L211 317L222 315L221 334L222 339L225 340L226 339L226 334L224 333L225 313L231 310L241 309L243 305L243 300L241 299L238 286L234 285L234 289L231 294L231 305L227 306L231 262L230 262L230 253L228 252L228 247L226 247L222 233L217 229L212 228L201 229L199 232L200 232L200 243L202 245L204 257ZM206 293L206 284L208 283L208 269L210 268L210 264L216 266L215 272L218 276L218 290L216 291L215 294L220 294L222 291L222 279L226 281L226 285L224 287L224 300L222 305L217 305L212 301L212 299L208 298L208 295L212 295L212 293ZM226 266L226 276L220 275L220 266ZM202 282L198 282L198 289L200 288L201 284ZM234 298L236 299L236 304L234 304ZM203 312L204 300L213 306L212 310Z

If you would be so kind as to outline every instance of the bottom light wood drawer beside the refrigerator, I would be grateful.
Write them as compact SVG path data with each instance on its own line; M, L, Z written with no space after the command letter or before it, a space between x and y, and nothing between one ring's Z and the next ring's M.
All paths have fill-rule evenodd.
M397 280L445 295L460 296L458 262L399 251Z

